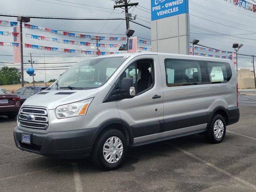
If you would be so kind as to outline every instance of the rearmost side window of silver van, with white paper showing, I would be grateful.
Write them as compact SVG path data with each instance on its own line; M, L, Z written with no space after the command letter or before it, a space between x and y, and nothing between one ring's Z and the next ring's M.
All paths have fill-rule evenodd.
M232 77L232 71L228 63L207 62L210 83L226 83Z

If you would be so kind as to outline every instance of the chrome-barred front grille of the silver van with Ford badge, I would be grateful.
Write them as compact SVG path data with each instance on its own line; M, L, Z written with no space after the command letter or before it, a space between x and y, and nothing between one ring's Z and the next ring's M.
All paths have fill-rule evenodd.
M27 119L27 115L33 115L33 119ZM48 114L46 108L24 106L18 115L20 127L46 130L48 127Z

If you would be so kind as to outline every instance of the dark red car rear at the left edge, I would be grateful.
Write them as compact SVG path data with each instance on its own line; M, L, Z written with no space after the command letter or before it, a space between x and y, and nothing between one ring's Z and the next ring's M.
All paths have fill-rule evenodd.
M20 110L20 97L0 88L0 115L14 119Z

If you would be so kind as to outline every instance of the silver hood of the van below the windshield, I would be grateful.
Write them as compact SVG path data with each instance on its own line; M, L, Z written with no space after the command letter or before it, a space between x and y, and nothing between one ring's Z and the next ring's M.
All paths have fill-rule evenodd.
M90 90L45 90L25 100L22 106L46 107L48 110L68 103L93 98L98 89Z

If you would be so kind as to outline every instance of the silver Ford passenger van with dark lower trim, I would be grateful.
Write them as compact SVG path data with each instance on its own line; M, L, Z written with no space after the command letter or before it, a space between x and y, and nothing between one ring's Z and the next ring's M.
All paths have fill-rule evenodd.
M202 134L220 143L239 120L230 60L140 52L78 62L28 98L14 129L21 150L118 168L128 148Z

